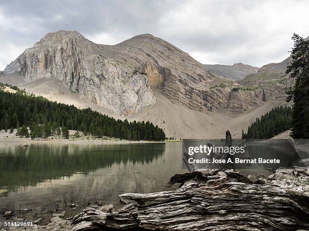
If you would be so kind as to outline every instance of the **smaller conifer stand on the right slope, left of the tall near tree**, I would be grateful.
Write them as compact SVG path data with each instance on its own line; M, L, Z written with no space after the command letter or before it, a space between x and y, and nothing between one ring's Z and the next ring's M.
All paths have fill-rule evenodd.
M242 130L242 139L269 139L291 128L291 107L276 107Z

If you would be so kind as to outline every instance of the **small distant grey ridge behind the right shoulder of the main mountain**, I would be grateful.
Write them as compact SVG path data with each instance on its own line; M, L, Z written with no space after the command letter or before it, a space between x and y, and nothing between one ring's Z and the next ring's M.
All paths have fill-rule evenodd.
M233 65L221 65L221 64L204 64L211 72L224 76L229 80L242 80L246 75L256 73L259 67L250 66L241 62Z

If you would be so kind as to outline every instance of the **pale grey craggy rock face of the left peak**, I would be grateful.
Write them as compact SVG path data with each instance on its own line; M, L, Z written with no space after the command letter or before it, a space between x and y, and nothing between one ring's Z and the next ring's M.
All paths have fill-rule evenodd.
M134 66L102 56L100 46L78 32L49 33L4 72L21 72L27 81L56 77L71 91L118 114L155 103L147 76Z

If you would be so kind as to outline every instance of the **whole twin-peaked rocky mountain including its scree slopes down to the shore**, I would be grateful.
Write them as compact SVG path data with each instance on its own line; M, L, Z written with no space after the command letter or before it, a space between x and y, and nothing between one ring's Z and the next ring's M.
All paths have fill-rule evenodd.
M102 45L77 31L48 33L7 65L0 82L117 119L149 120L167 137L219 138L226 129L238 137L284 101L263 86L227 80L150 34Z

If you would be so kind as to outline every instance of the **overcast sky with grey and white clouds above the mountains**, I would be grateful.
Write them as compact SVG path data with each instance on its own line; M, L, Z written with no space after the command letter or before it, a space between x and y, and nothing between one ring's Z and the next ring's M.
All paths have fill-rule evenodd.
M150 33L204 64L262 66L309 36L309 1L1 1L0 70L46 33L77 30L101 44Z

